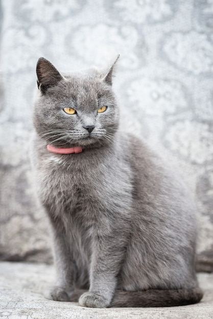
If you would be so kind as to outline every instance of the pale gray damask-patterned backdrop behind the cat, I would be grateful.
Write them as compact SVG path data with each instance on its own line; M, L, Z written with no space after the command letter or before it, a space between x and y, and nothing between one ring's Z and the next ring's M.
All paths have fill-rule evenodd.
M37 59L67 71L120 53L121 125L183 175L213 270L213 0L2 0L1 19L0 258L52 260L29 160Z

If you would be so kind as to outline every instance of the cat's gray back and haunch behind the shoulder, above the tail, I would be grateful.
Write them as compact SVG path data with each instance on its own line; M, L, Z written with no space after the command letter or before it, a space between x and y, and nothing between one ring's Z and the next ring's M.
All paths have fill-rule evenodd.
M133 230L123 267L122 288L195 284L195 273L190 267L194 264L195 207L190 195L181 179L143 141L129 136L128 144ZM138 271L138 266L132 269L132 265L139 263L143 272ZM129 280L132 273L134 285Z

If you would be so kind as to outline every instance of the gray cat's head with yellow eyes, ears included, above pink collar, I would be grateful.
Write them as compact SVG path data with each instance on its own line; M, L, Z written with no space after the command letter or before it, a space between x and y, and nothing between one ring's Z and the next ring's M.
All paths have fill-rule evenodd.
M117 57L118 59L119 57ZM34 108L37 134L48 144L68 147L113 141L119 108L112 92L113 67L62 75L46 59L37 63L38 98Z

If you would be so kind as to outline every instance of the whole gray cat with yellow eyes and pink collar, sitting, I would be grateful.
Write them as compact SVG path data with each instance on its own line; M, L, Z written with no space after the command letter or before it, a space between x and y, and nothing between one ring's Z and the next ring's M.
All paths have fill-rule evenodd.
M119 128L115 62L70 75L37 63L34 165L57 267L46 297L72 301L87 289L85 307L197 303L194 205L147 145Z

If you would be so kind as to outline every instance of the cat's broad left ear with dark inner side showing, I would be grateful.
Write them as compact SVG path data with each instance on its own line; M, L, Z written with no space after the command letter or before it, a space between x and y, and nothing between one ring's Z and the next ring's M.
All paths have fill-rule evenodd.
M36 74L38 89L42 93L45 93L48 88L57 85L57 83L63 79L63 76L55 66L44 58L38 59Z

